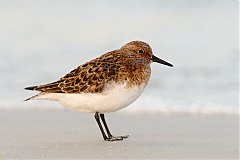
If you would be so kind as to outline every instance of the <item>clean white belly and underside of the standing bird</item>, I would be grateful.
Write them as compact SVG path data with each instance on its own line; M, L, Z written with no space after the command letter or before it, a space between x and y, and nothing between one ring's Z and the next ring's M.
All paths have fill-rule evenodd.
M103 93L40 93L33 99L49 99L80 112L112 112L127 107L143 92L145 85L127 88L126 84L111 85ZM110 89L111 88L111 89Z

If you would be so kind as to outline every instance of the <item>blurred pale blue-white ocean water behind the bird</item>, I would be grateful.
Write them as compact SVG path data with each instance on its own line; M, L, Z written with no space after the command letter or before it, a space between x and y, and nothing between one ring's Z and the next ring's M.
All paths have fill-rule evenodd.
M128 111L239 113L238 1L0 0L0 109L63 108L24 99L131 40L174 65L152 64Z

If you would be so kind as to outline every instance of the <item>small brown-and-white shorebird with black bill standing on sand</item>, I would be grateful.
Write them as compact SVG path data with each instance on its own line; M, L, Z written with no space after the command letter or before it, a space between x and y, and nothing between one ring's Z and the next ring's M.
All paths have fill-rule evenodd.
M105 141L123 140L128 136L113 136L104 114L127 107L142 94L152 62L173 67L154 56L149 44L132 41L78 66L55 82L25 88L40 91L26 100L54 100L76 111L95 113Z

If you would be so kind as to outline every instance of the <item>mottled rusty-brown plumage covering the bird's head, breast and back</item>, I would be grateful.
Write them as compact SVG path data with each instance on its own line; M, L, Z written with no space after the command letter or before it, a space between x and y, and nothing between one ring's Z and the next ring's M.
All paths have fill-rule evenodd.
M49 93L101 93L111 82L127 82L132 87L148 82L151 61L151 47L132 41L77 67L56 82L32 89Z

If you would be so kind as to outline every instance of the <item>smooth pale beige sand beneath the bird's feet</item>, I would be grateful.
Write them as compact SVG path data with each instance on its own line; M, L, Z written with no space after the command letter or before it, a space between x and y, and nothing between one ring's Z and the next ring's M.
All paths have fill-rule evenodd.
M0 111L0 159L238 159L238 115L106 114L120 142L103 141L93 114Z

